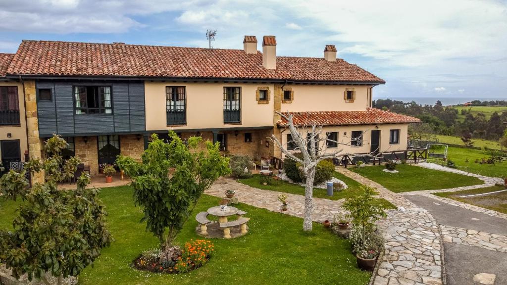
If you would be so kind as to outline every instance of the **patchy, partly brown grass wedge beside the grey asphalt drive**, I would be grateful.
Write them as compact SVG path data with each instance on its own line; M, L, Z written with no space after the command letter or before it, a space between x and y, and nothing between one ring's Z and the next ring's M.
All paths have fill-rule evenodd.
M443 193L433 193L433 194L440 196L440 197L450 198L450 199L460 201L463 203L468 203L468 204L476 205L479 207L483 207L483 208L487 208L487 209L491 209L491 210L495 210L495 211L507 214L507 191L500 192L498 194L485 195L485 196L459 198L460 196L465 196L465 195L474 195L474 194L488 193L488 192L494 192L494 191L500 191L500 190L505 190L505 187L492 186L492 187L479 188L479 189L473 189L473 190L464 190L464 191L458 191L458 192L443 192Z

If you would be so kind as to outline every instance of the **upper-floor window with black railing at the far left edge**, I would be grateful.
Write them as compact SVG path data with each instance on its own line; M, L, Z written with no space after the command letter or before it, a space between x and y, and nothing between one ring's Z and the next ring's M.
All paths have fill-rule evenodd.
M0 86L0 125L19 125L17 86Z

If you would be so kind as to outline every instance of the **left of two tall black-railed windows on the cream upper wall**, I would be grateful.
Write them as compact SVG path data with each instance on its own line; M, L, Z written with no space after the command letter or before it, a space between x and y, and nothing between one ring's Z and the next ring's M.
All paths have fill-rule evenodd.
M168 125L187 123L187 94L185 86L166 86L165 102Z

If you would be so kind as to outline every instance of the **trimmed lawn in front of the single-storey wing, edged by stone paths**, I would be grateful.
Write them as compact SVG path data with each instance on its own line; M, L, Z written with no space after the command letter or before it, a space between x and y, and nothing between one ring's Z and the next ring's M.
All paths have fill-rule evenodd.
M483 181L476 177L408 164L397 165L396 170L400 171L398 173L385 172L383 169L384 165L350 168L396 193L483 184Z

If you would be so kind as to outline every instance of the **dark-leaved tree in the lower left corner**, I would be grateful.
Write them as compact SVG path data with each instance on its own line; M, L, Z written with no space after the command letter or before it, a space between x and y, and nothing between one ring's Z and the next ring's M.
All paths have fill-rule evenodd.
M14 231L0 230L0 263L19 277L27 273L50 284L48 275L58 284L79 273L100 255L112 237L105 227L107 215L99 190L86 189L90 176L83 173L77 189L58 189L57 183L74 175L79 160L62 161L67 144L59 136L48 139L47 159L32 158L21 173L13 170L0 178L0 191L9 199L23 200L13 221ZM45 171L44 184L28 188L26 171Z

